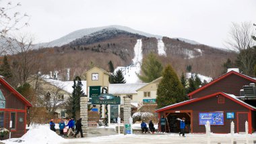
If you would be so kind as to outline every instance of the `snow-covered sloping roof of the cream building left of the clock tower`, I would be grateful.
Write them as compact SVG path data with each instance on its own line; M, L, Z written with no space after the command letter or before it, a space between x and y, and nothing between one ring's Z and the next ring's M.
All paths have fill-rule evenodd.
M68 92L69 94L71 94L73 92L73 81L61 81L61 80L54 80L49 78L48 76L43 76L44 80L46 82L49 82L51 84L53 84L54 86L56 86L57 88L61 88L63 90L65 90L66 92ZM82 80L82 89L84 90L84 94L86 94L86 80Z

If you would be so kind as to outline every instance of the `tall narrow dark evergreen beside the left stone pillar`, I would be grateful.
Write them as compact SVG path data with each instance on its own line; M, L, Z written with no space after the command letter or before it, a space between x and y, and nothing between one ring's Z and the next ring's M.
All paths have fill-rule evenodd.
M71 115L71 117L77 119L80 111L80 97L84 96L84 91L82 90L82 82L79 76L75 77L73 83L73 92L72 96L67 100L66 112Z

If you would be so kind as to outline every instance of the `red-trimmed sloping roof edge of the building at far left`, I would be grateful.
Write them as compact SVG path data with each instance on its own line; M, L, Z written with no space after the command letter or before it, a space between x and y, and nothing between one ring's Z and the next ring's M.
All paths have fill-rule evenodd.
M22 100L22 102L24 102L24 104L26 104L26 106L28 107L32 107L32 104L26 100L26 98L24 98L24 96L22 96L22 94L20 94L17 90L15 90L10 84L8 84L8 82L6 82L3 78L0 77L0 83L5 86L5 88L7 88L8 90L10 90L11 92L13 92L13 94L19 98L20 100Z

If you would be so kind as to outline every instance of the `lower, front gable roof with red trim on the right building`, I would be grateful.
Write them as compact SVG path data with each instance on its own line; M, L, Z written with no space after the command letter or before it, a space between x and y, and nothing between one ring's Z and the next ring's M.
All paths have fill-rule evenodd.
M157 109L156 110L156 113L159 113L161 111L165 111L165 110L168 110L168 109L173 109L173 108L176 108L176 107L179 107L179 106L184 106L184 105L187 105L187 104L191 104L193 102L197 102L197 101L200 101L200 100L204 100L204 99L207 99L207 98L211 98L213 96L217 96L217 95L222 95L222 96L225 96L226 98L240 104L241 106L244 106L246 107L247 109L250 109L252 111L256 111L256 107L255 106L251 106L250 104L247 104L245 103L243 100L239 100L238 98L236 98L236 96L234 96L233 94L226 94L224 92L216 92L214 94L210 94L210 95L207 95L207 96L203 96L201 98L193 98L191 100L187 100L187 101L183 101L183 102L179 102L177 104L172 104L170 106L165 106L161 109Z

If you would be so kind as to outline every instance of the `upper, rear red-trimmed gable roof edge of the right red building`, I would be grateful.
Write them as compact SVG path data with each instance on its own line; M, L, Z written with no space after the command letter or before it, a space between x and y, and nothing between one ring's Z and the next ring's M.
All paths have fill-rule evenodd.
M230 71L230 72L228 72L228 73L226 73L226 74L223 74L222 76L216 78L216 79L213 80L212 82L209 82L208 84L205 84L205 85L202 86L201 88L198 88L197 90L194 90L193 92L190 92L190 93L187 94L187 95L188 95L188 96L191 96L191 95L193 95L193 94L195 94L195 93L197 93L197 92L199 92L199 91L201 91L201 90L207 88L208 86L211 86L212 84L215 84L216 82L218 82L218 81L220 81L220 80L222 80L222 79L224 79L224 78L230 76L231 74L235 74L236 76L241 76L242 78L245 78L245 79L247 79L247 80L250 80L251 82L256 82L256 80L255 80L254 78L251 78L250 76L247 76L247 75L245 75L245 74L241 74L241 73L239 73L239 72L235 72L235 71L232 70L232 71Z

